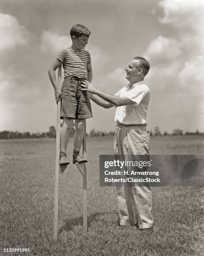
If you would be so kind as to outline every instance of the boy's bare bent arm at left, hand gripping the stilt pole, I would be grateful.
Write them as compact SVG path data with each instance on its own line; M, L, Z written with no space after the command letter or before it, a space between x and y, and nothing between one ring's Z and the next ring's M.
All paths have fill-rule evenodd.
M60 96L61 96L61 91L58 88L57 81L56 81L56 75L55 75L55 70L62 65L62 62L59 59L55 59L53 63L50 65L48 69L48 75L50 77L50 82L52 83L52 86L55 89L55 100L58 102Z

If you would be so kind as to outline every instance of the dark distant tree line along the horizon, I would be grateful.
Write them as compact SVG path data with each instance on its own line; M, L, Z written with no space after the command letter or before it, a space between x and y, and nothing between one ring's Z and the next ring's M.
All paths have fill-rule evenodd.
M168 133L164 131L163 133L160 131L159 127L156 126L154 131L149 131L150 136L170 136L170 135L204 135L204 133L199 132L196 130L195 132L184 132L183 130L177 128L172 131L172 133ZM70 137L74 137L75 129L74 125L70 132ZM87 133L87 136L90 137L100 137L100 136L114 136L114 131L96 131L94 128ZM56 129L55 126L50 126L49 131L43 133L30 133L30 132L18 132L18 131L1 131L0 132L0 139L14 139L14 138L55 138L56 137Z

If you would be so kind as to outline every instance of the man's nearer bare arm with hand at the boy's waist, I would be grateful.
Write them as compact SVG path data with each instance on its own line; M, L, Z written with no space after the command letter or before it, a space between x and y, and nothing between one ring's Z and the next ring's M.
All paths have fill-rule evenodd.
M134 101L129 100L125 96L119 97L119 96L115 96L115 95L109 94L107 92L104 92L102 90L99 90L97 87L90 84L90 82L82 81L82 83L83 83L82 86L84 87L84 89L82 89L82 90L91 92L92 94L96 94L99 97L101 97L102 99L106 100L107 102L111 103L112 105L114 105L116 107L124 106L124 105L132 105L135 103Z

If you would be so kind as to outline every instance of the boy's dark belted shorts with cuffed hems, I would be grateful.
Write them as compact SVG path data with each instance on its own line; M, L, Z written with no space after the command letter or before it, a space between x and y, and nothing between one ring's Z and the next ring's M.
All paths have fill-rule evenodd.
M81 82L86 78L65 77L62 83L62 102L60 118L92 118L90 98L87 91L82 91Z

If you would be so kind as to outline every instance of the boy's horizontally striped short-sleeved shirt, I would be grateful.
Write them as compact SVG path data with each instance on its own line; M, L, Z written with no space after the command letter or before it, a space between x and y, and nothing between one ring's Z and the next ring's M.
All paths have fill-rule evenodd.
M91 56L87 50L76 52L72 48L62 49L56 58L62 61L64 78L87 77L87 64L91 63Z

